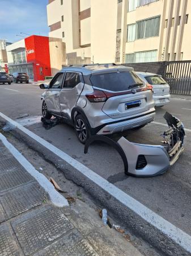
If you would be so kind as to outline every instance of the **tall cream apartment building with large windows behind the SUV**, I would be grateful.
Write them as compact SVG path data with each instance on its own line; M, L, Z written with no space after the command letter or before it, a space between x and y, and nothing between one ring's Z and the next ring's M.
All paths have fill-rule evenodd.
M191 1L49 0L67 64L190 60Z

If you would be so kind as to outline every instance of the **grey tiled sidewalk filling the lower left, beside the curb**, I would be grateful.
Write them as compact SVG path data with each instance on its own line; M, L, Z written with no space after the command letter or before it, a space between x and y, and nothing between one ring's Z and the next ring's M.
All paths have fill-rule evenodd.
M55 207L0 138L0 255L142 255L85 212Z

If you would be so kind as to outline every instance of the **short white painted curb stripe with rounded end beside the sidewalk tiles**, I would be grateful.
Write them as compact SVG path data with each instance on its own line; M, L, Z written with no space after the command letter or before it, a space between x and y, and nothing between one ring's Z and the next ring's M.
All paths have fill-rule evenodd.
M53 184L40 172L38 172L35 167L32 166L30 162L22 155L20 152L9 142L6 137L0 133L0 139L6 148L11 152L11 154L18 160L20 164L26 169L26 171L33 176L37 182L48 192L50 200L52 203L58 207L69 206L65 197L61 196L60 193L56 191Z

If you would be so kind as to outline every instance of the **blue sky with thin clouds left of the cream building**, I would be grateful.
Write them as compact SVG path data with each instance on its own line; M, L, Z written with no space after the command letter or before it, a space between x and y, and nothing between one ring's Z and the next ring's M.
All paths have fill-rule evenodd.
M16 42L22 36L48 36L46 5L48 0L0 0L0 39Z

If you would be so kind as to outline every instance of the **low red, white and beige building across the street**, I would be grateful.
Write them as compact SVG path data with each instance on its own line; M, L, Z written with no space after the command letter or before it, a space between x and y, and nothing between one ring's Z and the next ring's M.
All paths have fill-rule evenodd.
M27 73L30 80L53 76L66 64L65 43L59 38L32 35L7 46L9 73Z

